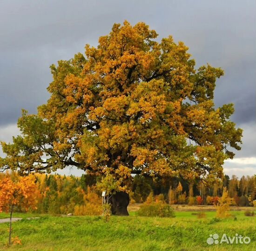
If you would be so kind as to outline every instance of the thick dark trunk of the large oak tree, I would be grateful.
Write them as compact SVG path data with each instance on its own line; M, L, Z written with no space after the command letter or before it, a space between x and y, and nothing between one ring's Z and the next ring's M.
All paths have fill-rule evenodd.
M110 198L111 212L114 215L129 215L129 194L127 192L116 192Z

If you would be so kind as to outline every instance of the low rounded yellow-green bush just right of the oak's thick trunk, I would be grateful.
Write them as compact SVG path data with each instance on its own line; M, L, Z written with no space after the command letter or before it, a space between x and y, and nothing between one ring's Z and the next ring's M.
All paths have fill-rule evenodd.
M141 205L140 210L137 211L137 214L148 217L175 217L172 207L164 202L144 203Z

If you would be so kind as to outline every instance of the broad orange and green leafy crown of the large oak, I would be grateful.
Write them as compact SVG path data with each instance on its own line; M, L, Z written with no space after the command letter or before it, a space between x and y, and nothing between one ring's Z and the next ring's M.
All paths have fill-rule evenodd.
M51 97L38 114L23 111L20 136L2 142L2 170L72 165L111 175L119 192L132 174L221 177L224 160L242 143L242 129L229 120L233 105L214 105L223 71L195 69L187 46L156 37L145 23L125 21L96 48L86 45L85 55L52 65Z

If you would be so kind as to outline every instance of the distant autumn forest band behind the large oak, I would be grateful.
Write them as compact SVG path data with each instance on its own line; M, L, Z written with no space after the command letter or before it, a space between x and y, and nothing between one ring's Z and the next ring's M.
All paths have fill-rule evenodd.
M0 179L16 173L0 173ZM38 213L95 215L101 214L101 191L96 184L101 177L83 174L81 177L59 174L30 174L37 184ZM136 175L130 182L130 204L143 203L149 194L163 198L168 204L216 205L227 187L233 205L252 206L256 199L256 175L204 183L182 178L150 178ZM16 211L22 211L17 208Z

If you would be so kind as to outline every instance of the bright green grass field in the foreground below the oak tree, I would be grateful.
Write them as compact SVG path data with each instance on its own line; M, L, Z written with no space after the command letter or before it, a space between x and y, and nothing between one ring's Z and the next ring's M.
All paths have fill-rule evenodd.
M175 218L111 216L105 223L101 217L57 217L40 215L40 219L23 219L13 223L13 237L22 245L6 246L8 224L0 224L0 250L20 251L226 251L256 250L256 217L245 217L232 211L233 218L216 221L216 212L198 219L193 212L175 212ZM0 214L5 218L6 214ZM17 214L13 217L31 217ZM236 233L251 238L250 244L208 245L209 234Z

